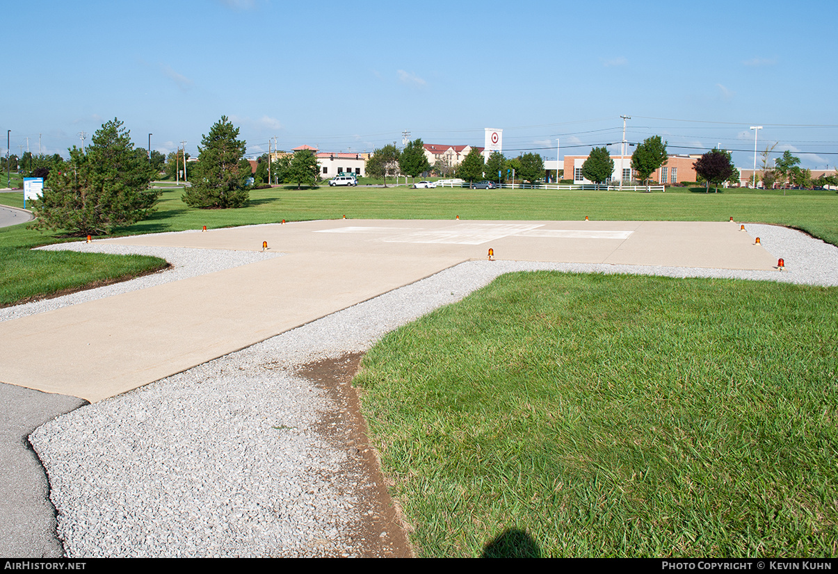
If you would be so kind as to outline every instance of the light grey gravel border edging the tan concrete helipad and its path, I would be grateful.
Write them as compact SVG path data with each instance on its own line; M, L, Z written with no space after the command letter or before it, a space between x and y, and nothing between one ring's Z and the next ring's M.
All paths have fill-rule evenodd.
M468 261L60 416L39 427L29 441L49 475L65 553L71 557L360 556L361 541L352 536L363 520L354 512L359 503L356 493L363 485L360 477L343 472L354 455L318 434L319 413L328 411L330 404L322 390L295 375L300 365L365 351L392 329L458 301L510 271L555 269L838 285L835 246L773 225L746 228L761 238L766 250L784 257L787 271ZM124 246L109 249L126 252ZM165 252L169 261L178 256L198 260L207 251L130 250ZM264 257L252 252L212 253L235 261ZM209 268L209 263L197 265L201 272ZM177 266L159 276L173 272ZM157 277L141 277L122 286L146 287L154 283L145 282ZM68 296L75 298L66 304L77 303L79 297L104 297L107 289ZM31 313L42 312L39 309L33 307Z

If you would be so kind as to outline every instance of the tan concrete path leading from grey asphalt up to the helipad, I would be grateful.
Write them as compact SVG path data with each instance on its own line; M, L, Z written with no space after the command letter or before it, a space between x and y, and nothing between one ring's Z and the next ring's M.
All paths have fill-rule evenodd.
M460 261L289 254L14 319L0 323L0 380L101 401Z

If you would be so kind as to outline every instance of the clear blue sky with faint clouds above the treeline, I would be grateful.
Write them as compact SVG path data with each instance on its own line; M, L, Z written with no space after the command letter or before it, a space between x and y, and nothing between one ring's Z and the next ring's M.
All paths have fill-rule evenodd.
M248 155L402 131L482 146L495 127L507 156L553 159L556 138L561 156L619 142L627 115L629 142L660 134L670 153L721 144L747 168L763 126L760 150L838 163L835 0L34 0L3 19L12 153L28 137L66 156L118 117L137 146L196 155L225 115Z

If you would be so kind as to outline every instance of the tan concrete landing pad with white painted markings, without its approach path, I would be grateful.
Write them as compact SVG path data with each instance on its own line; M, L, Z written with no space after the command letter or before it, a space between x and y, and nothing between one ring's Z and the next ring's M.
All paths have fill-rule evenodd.
M732 222L327 220L103 240L144 246L770 269Z

